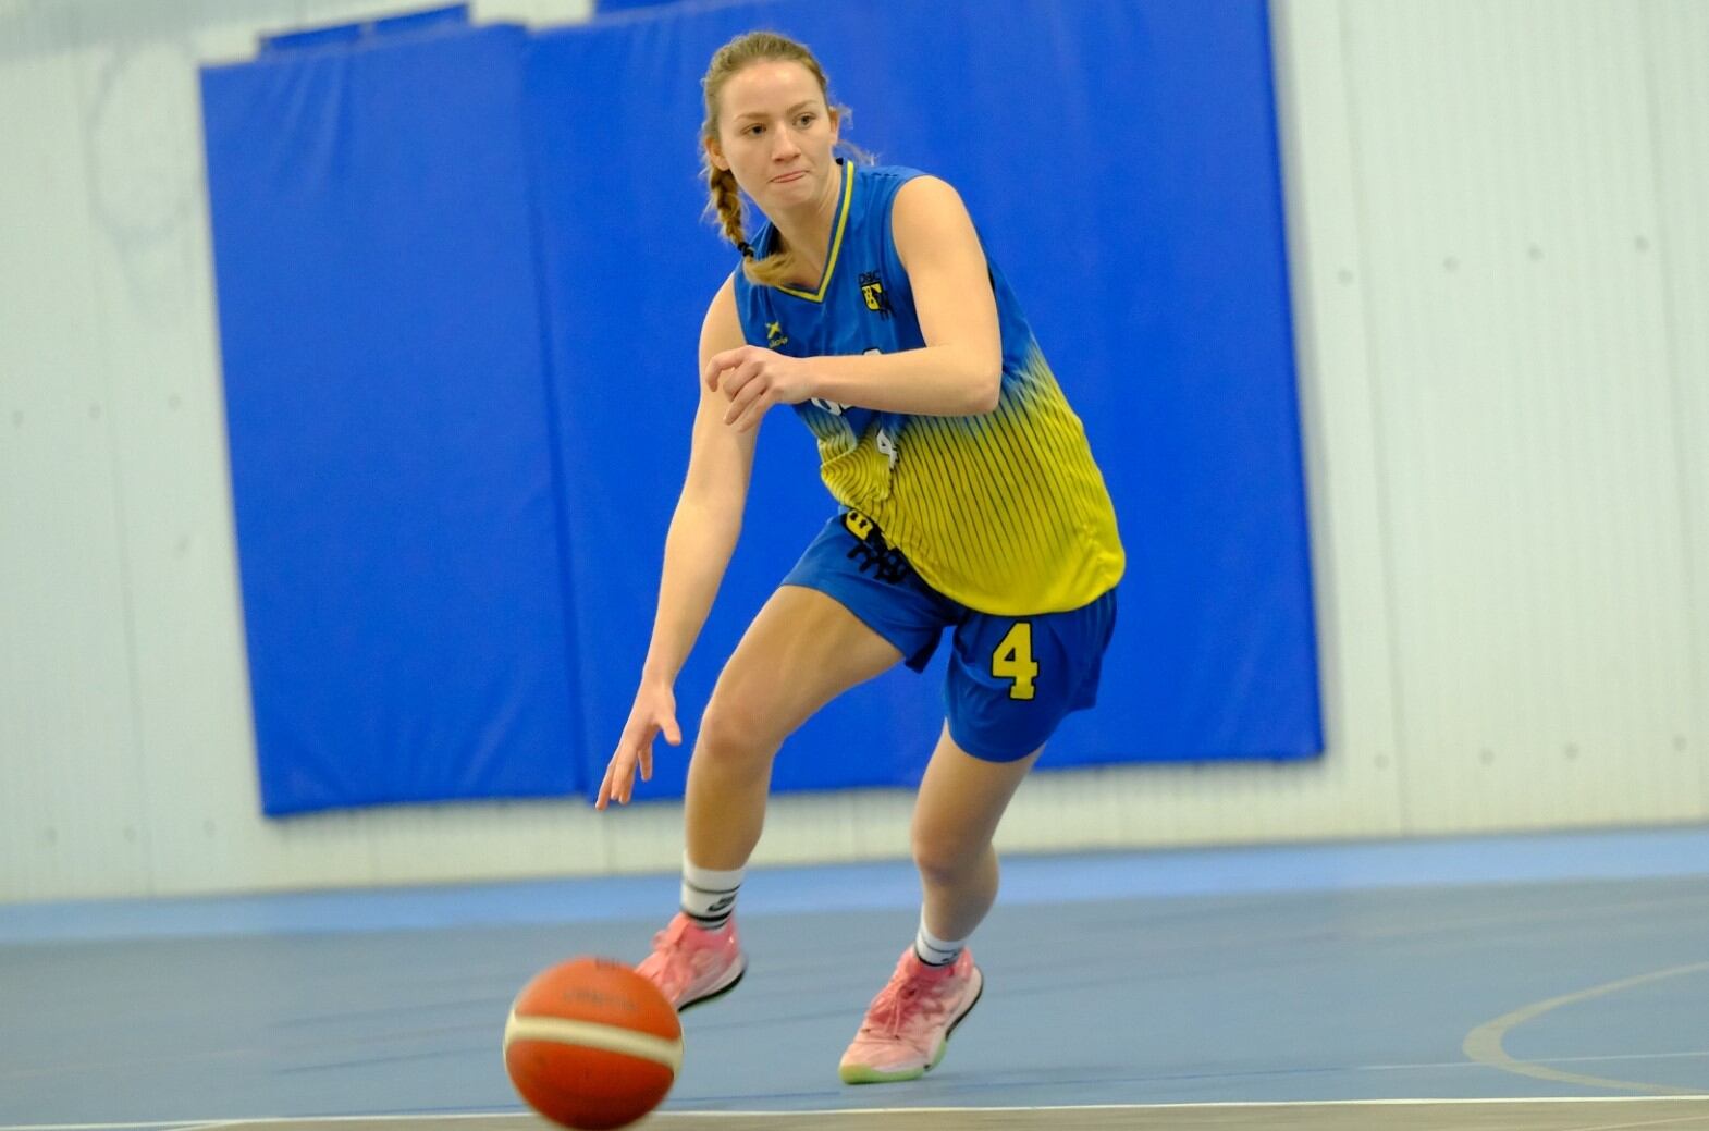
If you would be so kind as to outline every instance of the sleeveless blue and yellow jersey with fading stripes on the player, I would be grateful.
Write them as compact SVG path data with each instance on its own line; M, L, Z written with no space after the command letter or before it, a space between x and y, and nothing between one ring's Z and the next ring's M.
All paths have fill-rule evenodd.
M742 333L791 357L921 349L914 296L890 237L914 169L843 162L831 255L813 290L755 287L737 272ZM754 237L764 256L776 239ZM1125 557L1085 427L1044 362L995 263L1003 388L993 412L928 417L812 400L820 477L866 514L935 589L983 613L1080 608L1121 579Z

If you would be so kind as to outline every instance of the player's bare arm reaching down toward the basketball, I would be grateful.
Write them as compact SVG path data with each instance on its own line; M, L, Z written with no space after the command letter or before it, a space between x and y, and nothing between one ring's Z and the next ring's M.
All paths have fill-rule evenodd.
M737 318L735 284L726 280L713 297L701 326L701 364L719 350L742 343ZM749 477L754 472L754 432L737 432L723 424L726 401L701 383L701 401L694 413L694 441L689 449L689 475L677 499L677 511L665 535L665 567L658 583L658 612L653 617L653 642L641 668L641 685L629 709L629 721L617 740L617 750L605 767L605 781L595 808L610 801L627 805L634 777L653 777L653 740L660 735L670 745L682 743L677 724L677 697L672 690L696 637L706 625L713 598L723 583L747 504Z

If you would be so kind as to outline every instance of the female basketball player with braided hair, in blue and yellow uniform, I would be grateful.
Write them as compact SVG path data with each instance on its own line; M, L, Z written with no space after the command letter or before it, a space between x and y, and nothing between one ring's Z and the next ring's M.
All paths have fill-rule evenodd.
M996 899L991 839L1046 738L1095 699L1123 550L1080 420L955 190L837 159L825 75L791 39L740 36L702 84L709 210L742 265L701 328L653 641L596 806L651 777L655 736L682 741L672 685L735 548L755 429L793 405L839 513L718 678L689 762L682 912L639 970L677 1008L740 981L731 907L778 748L849 687L923 668L952 629L911 834L919 931L841 1063L848 1083L913 1080L979 998L966 940ZM764 214L752 237L738 193Z

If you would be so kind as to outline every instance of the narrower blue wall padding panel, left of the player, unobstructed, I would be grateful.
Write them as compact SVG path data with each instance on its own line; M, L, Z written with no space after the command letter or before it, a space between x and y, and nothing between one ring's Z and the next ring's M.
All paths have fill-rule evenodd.
M267 813L586 788L525 48L203 72Z

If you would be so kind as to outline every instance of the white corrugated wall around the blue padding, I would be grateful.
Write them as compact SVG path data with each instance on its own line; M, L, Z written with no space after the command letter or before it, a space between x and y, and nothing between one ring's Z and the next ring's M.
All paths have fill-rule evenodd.
M195 63L410 7L0 0L0 900L677 863L668 805L256 813ZM1709 3L1273 26L1330 752L1039 774L1001 842L1709 820ZM906 841L791 796L759 863Z

